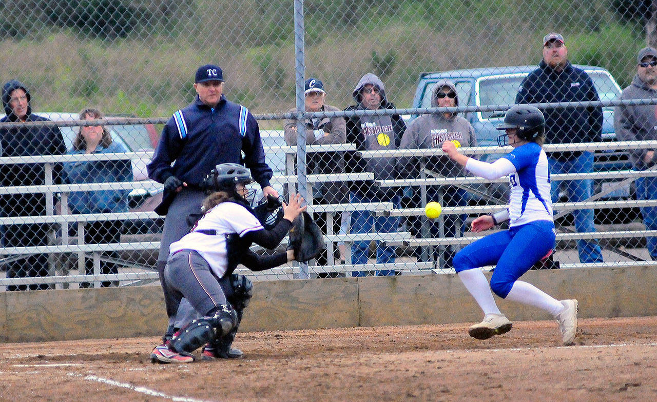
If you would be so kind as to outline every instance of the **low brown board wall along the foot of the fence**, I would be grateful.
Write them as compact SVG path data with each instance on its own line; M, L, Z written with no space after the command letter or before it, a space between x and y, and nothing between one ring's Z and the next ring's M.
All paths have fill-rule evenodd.
M523 280L577 298L579 317L657 315L657 269L530 271ZM499 301L511 320L552 319ZM256 282L240 331L474 323L482 313L457 275ZM0 341L153 336L166 328L159 286L0 293Z

